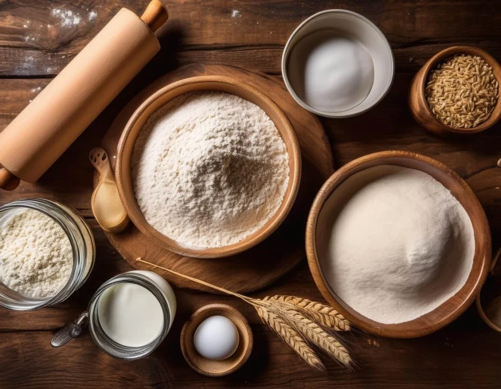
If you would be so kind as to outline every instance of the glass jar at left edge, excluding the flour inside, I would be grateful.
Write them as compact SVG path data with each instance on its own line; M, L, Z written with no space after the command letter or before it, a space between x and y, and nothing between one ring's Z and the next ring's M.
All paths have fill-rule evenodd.
M73 268L66 285L50 297L30 297L16 292L0 281L0 306L13 310L33 310L59 304L80 288L89 277L96 258L92 231L78 211L69 205L40 198L14 201L0 207L0 228L26 209L43 212L64 230L73 251Z

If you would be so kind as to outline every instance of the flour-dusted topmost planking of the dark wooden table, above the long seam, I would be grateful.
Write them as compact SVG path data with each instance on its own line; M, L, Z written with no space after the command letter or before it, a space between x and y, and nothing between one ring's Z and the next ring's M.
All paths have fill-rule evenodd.
M280 74L282 48L289 35L303 20L329 8L349 9L374 22L390 41L399 72L417 71L452 44L474 45L501 56L496 44L501 39L496 0L481 5L469 0L460 7L453 1L422 0L172 0L164 4L169 21L160 30L161 44L178 54L179 66L224 64ZM0 2L0 77L56 75L120 8L141 15L145 5L138 0ZM54 10L71 11L81 20L65 25ZM152 64L157 70L164 65L162 55Z

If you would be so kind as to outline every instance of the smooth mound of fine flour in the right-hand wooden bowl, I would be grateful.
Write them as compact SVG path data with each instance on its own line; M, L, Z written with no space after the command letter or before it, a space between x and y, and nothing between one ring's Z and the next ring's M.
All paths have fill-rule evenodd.
M426 314L471 271L468 214L430 175L382 165L354 174L326 201L317 223L326 281L346 304L385 324Z

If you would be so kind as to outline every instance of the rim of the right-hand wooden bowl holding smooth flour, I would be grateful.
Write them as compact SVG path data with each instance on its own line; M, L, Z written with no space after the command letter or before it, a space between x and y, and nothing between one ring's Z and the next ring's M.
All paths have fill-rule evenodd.
M341 304L338 301L338 296L334 295L334 293L331 292L331 289L329 285L326 283L324 280L324 276L322 274L321 266L319 264L319 259L317 256L317 249L316 249L316 228L317 228L317 220L318 216L320 214L320 211L322 210L325 202L327 199L330 197L330 195L334 192L334 190L342 183L344 182L348 177L350 177L352 174L356 174L357 172L364 170L366 168L376 166L373 165L374 162L378 161L385 161L387 160L388 162L386 164L390 165L397 165L396 163L392 163L391 161L395 159L409 159L409 160L414 160L418 161L420 163L424 163L427 165L430 165L434 169L440 170L442 173L447 175L449 178L452 180L456 181L461 189L465 191L468 201L471 202L471 208L478 214L479 220L478 220L478 229L474 230L475 234L475 243L476 243L476 237L477 236L484 236L485 237L485 244L480 248L479 254L476 252L475 248L475 254L473 257L473 261L479 261L479 271L476 277L474 277L473 284L471 285L470 289L465 291L464 293L466 294L466 298L464 300L458 302L458 303L453 303L455 306L455 309L451 312L448 312L447 315L444 315L443 317L440 317L439 319L436 319L435 322L429 322L424 325L422 325L419 328L405 328L405 324L412 323L415 320L418 320L422 318L423 316L426 316L430 314L431 312L434 312L437 309L440 309L444 304L447 304L449 301L451 301L459 292L462 291L462 288L456 292L452 297L450 297L448 300L446 300L444 303L440 304L437 308L432 310L431 312L426 313L423 316L419 316L416 319L403 322L403 323L398 323L398 324L383 324L376 322L374 320L371 320L358 312L356 312L354 309L352 309L354 312L357 313L357 316L352 314L350 311L345 309L344 305ZM384 163L382 163L384 164ZM365 166L365 167L364 167ZM417 169L420 170L420 169ZM444 184L442 184L444 185ZM445 185L444 185L445 186ZM461 204L462 205L462 204ZM468 216L471 218L471 215L468 213ZM452 321L454 321L459 315L461 315L475 300L476 295L479 293L481 286L485 282L485 279L487 278L487 273L488 269L490 266L490 261L491 261L491 237L490 237L490 228L489 224L487 221L487 217L485 215L485 211L483 210L483 207L481 206L480 202L478 201L478 198L475 196L474 192L471 190L471 188L466 184L466 182L457 175L452 169L444 165L443 163L436 161L432 158L426 157L421 154L413 153L413 152L408 152L408 151L382 151L382 152L377 152L373 154L368 154L365 156L362 156L360 158L357 158L348 164L344 165L340 169L338 169L329 179L325 182L325 184L322 186L322 188L319 190L317 196L315 197L315 200L312 204L312 207L310 209L310 213L308 215L308 220L307 220L307 225L306 225L306 236L305 236L305 241L306 241L306 254L307 254L307 259L308 259L308 265L310 267L310 271L312 273L312 276L314 278L314 281L322 293L322 295L325 297L325 299L334 307L336 308L340 313L342 313L351 323L353 323L355 326L366 330L368 332L374 333L376 335L380 336L386 336L386 337L393 337L393 338L413 338L413 337L419 337L419 336L424 336L428 335L432 332L435 332L436 330L446 326L447 324L450 324ZM470 274L468 276L471 276L473 271L470 271ZM466 284L465 284L466 285ZM346 304L347 305L347 304ZM392 326L399 326L399 327L404 327L404 328L394 328Z

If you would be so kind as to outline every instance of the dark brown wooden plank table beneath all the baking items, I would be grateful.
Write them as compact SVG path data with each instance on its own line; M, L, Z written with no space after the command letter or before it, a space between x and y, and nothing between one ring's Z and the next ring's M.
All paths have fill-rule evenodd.
M501 229L501 124L471 137L441 139L421 129L407 109L414 73L439 50L474 45L501 60L501 3L476 1L352 0L164 0L168 25L161 52L36 185L0 193L0 203L45 197L68 202L91 224L97 261L88 282L63 304L37 312L0 311L0 387L500 387L501 334L471 307L446 328L423 338L378 339L379 347L352 348L359 368L328 362L328 372L303 365L244 303L223 296L176 290L179 311L162 345L134 362L101 352L88 333L64 347L49 344L54 330L85 309L95 289L130 267L108 243L92 217L93 168L87 154L130 97L155 78L189 63L225 64L280 77L282 49L294 28L325 9L343 8L372 20L391 43L396 60L393 87L370 112L322 122L337 166L389 149L433 157L472 187L490 222L493 246ZM121 7L140 13L147 0L0 0L0 129L43 89ZM66 19L61 17L64 11ZM68 17L68 11L72 17ZM3 147L0 145L0 147ZM284 293L321 300L306 261L255 296ZM238 372L223 378L197 374L184 361L179 332L198 307L226 302L247 316L254 351Z

